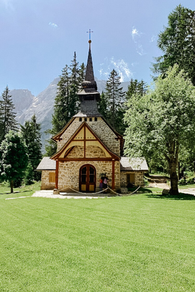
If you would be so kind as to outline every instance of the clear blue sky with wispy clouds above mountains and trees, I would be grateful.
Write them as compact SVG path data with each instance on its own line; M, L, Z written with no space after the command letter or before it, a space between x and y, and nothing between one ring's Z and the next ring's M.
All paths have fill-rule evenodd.
M0 93L6 86L35 96L70 65L87 63L89 29L94 75L151 83L158 34L169 13L194 0L0 0Z

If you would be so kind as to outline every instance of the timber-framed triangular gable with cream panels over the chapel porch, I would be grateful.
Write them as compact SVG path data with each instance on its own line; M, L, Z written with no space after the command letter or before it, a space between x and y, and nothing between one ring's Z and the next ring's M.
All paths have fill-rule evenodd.
M96 148L97 151L94 151L94 155L89 157L89 154L86 155L89 150L89 146L92 148ZM80 149L80 151L75 152L75 157L71 157L71 153L75 151L75 147ZM99 152L98 152L99 150ZM103 155L102 157L97 157L97 153ZM92 152L91 152L92 153ZM69 156L69 157L68 157ZM65 143L65 145L59 150L56 154L54 154L51 159L60 159L60 160L70 160L70 159L90 159L90 158L105 158L105 159L117 159L119 160L119 156L111 152L106 145L97 137L97 135L92 131L92 129L88 126L86 122L83 122L81 126L77 129L74 135L70 138L70 140Z

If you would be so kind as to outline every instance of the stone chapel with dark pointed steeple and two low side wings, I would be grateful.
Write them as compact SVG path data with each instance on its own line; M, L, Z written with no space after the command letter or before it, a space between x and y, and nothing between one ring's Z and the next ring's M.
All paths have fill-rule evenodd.
M72 192L98 192L99 179L106 173L108 186L115 191L144 185L145 159L121 157L124 139L98 111L100 93L94 79L91 41L85 80L78 92L80 111L51 139L57 152L44 157L37 167L42 171L41 189Z

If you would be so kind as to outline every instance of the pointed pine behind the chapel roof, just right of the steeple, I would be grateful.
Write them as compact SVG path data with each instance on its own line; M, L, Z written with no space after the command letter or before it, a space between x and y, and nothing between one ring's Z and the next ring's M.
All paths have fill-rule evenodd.
M124 131L124 125L122 122L124 113L124 109L122 107L122 104L124 103L124 95L125 93L122 92L122 87L120 87L120 77L113 69L106 82L105 88L105 96L108 100L109 109L107 120L119 133L123 133Z

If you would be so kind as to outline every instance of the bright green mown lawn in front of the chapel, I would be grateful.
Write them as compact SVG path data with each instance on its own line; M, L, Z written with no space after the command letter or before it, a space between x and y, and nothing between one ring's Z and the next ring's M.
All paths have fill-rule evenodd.
M0 194L1 292L195 291L195 197L11 196Z

